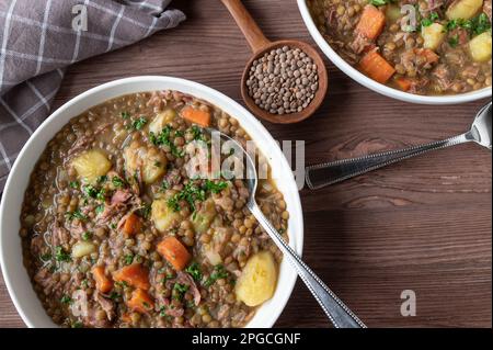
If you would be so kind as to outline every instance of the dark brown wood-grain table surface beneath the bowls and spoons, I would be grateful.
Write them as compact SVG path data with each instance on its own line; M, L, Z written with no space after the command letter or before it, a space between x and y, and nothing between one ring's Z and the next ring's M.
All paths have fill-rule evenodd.
M272 39L312 43L295 0L243 1ZM165 75L217 89L242 103L250 52L218 0L175 0L180 27L70 67L55 108L118 78ZM330 92L313 117L265 126L276 139L306 140L308 163L442 139L466 131L485 101L424 106L393 101L326 61ZM320 191L300 192L303 257L369 327L492 326L492 158L475 145L409 160ZM416 316L400 313L416 293ZM23 327L0 282L0 327ZM278 327L328 327L297 282Z

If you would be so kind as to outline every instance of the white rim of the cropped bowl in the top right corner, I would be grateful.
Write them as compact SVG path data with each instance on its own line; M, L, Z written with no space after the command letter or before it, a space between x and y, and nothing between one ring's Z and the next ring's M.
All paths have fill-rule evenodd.
M313 22L313 19L310 14L310 11L307 5L307 0L297 0L298 1L298 8L301 13L301 16L305 21L305 24L310 32L310 35L317 43L317 45L320 47L320 49L325 54L325 56L343 72L345 72L347 76L349 76L353 80L360 83L362 86L378 92L380 94L383 94L386 97L404 101L404 102L411 102L411 103L417 103L417 104L433 104L433 105L443 105L443 104L458 104L458 103L466 103L471 101L477 101L485 98L491 98L492 95L492 89L491 88L484 88L477 91L471 91L468 93L461 93L461 94L449 94L449 95L436 95L436 97L429 97L429 95L421 95L421 94L413 94L404 91L400 91L390 87L387 87L382 83L379 83L364 74L362 74L359 70L351 66L348 63L346 63L330 45L329 43L323 38L320 31L317 29L317 25Z

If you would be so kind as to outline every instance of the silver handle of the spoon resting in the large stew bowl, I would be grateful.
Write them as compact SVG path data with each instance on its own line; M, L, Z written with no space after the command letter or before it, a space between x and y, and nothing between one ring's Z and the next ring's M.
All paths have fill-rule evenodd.
M285 257L288 257L298 275L319 302L322 309L329 316L336 328L366 328L365 324L344 305L344 303L314 274L313 271L301 260L301 258L289 247L283 237L277 233L270 221L264 216L256 203L249 203L250 211L259 221L262 227L268 233L271 238L280 249Z

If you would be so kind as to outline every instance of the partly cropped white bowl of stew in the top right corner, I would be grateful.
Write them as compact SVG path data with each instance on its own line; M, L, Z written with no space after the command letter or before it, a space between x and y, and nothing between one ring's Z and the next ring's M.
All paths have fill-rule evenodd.
M414 103L491 97L491 0L298 0L317 44L367 88Z

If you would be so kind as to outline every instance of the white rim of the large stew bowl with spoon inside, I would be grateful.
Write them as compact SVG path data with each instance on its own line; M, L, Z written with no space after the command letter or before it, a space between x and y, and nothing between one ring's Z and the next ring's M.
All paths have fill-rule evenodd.
M5 232L9 232L7 224L5 224L5 217L7 217L7 202L9 201L10 197L12 196L21 196L21 203L23 202L23 197L24 197L24 192L25 192L25 187L27 185L27 183L25 184L24 188L22 189L16 189L15 188L15 182L16 182L16 174L22 171L23 169L21 169L21 167L26 168L27 166L24 165L24 157L28 151L33 151L32 146L34 144L34 142L39 137L39 135L43 135L43 133L45 133L45 129L50 126L51 124L57 122L57 118L59 115L62 115L64 113L66 113L67 110L70 111L70 109L72 109L72 106L77 105L78 103L82 103L85 99L91 98L92 95L95 95L98 93L102 93L106 90L111 91L112 89L118 89L122 88L125 89L125 84L129 84L129 86L138 86L138 84L142 84L142 83L149 83L152 86L153 84L162 84L163 87L161 88L161 90L165 90L167 89L167 84L177 84L177 86L183 86L183 89L192 89L194 91L196 91L196 93L191 93L197 98L202 98L200 95L197 94L206 94L209 95L211 99L214 99L214 101L210 101L210 99L205 99L202 98L204 100L206 100L209 103L213 103L217 106L219 106L220 109L222 109L223 111L226 111L228 114L230 114L231 110L237 111L237 113L239 114L234 114L233 116L239 120L240 124L242 124L242 126L244 127L244 121L248 121L248 124L251 124L252 126L249 127L253 127L256 128L256 131L259 132L260 136L257 138L263 137L262 139L265 140L268 144L268 147L271 147L272 145L275 145L275 148L268 148L270 150L274 151L274 155L265 155L267 156L267 158L273 159L273 157L276 157L276 161L280 161L282 163L282 168L283 169L289 169L290 171L290 166L288 165L285 156L283 155L280 148L275 144L274 138L272 137L272 135L268 133L268 131L246 110L244 109L242 105L240 105L238 102L236 102L234 100L232 100L231 98L225 95L223 93L211 89L209 87L206 87L204 84L194 82L194 81L190 81L186 79L181 79L181 78L173 78L173 77L167 77L167 76L138 76L138 77L131 77L131 78L124 78L124 79L118 79L118 80L114 80L114 81L110 81L103 84L100 84L95 88L92 88L85 92L82 92L81 94L74 97L73 99L67 101L64 105L61 105L58 110L56 110L55 112L53 112L44 122L43 124L33 133L33 135L30 137L30 139L26 142L26 144L24 145L24 147L22 148L22 150L20 151L15 162L12 166L12 169L10 171L10 174L8 177L5 187L4 187L4 191L3 191L3 196L2 196L2 201L0 203L0 264L1 264L1 270L2 270L2 274L3 274L3 280L5 282L7 289L9 291L10 297L19 313L19 315L21 316L21 318L23 319L23 321L27 325L27 327L30 328L34 328L37 327L36 324L39 324L37 320L34 321L33 320L33 314L30 313L30 311L25 307L25 304L27 303L27 301L22 301L18 297L18 286L14 283L14 279L18 278L15 275L12 274L13 270L11 269L13 261L7 261L5 260L5 252L7 249L18 249L20 251L22 251L21 249L21 245L20 245L20 236L18 232L14 232L13 234L16 235L18 239L14 238L14 240L19 241L19 247L7 247L4 246L4 237L5 237ZM133 90L131 88L129 88L130 90ZM136 88L133 91L126 91L124 93L121 94L115 94L113 98L116 98L118 95L123 95L123 94L127 94L127 93L135 93L135 92L144 92L144 91L153 91L153 90L160 90L158 89L138 89ZM175 90L180 90L180 89L175 89ZM187 91L182 91L184 93L187 93ZM110 98L111 99L111 98ZM107 100L107 99L105 99ZM101 101L101 102L95 102L93 104L91 104L92 106L95 106L102 102L104 102L105 100ZM90 106L91 108L91 106ZM89 109L90 109L89 108ZM88 110L83 109L83 111ZM83 112L82 111L82 112ZM80 113L82 113L80 112ZM68 113L68 112L67 112ZM71 115L70 117L68 117L67 122L77 116L78 114ZM231 115L231 114L230 114ZM67 123L66 122L66 123ZM50 136L48 137L48 139L51 139L55 134L61 129L62 126L66 125L66 123L58 125L57 131L56 132L51 132ZM245 127L246 128L246 127ZM252 139L255 140L255 136L251 135ZM45 144L46 146L46 144ZM262 148L262 147L261 147ZM44 148L38 150L37 153L41 155L43 153ZM280 158L277 159L277 158ZM37 161L38 157L36 157L36 161ZM33 165L34 166L34 165ZM32 169L28 171L28 174L31 174ZM283 194L288 193L289 195L289 203L290 203L290 207L289 211L294 214L291 215L291 217L289 218L289 229L288 229L288 235L289 235L289 246L295 249L295 251L301 256L302 253L302 247L303 247L303 216L302 216L302 208L301 208L301 201L299 197L299 191L298 188L296 185L296 182L294 180L294 178L289 178L286 180L287 181L287 189L285 192L283 192ZM22 191L19 191L22 190ZM18 194L15 194L15 192L19 192ZM20 214L20 207L16 210L13 210L15 213ZM295 217L295 215L297 216L296 221L291 219L293 217ZM19 221L19 215L16 217L16 219ZM37 298L37 295L34 293L34 290L32 289L32 284L31 281L28 279L27 275L27 271L25 270L23 263L22 263L22 255L20 257L21 260L21 271L22 273L25 274L25 278L28 280L28 285L31 286L31 291L27 291L27 294L33 294L36 302L39 304L39 307L43 309L43 306L41 305L41 302ZM19 262L19 261L18 261ZM273 327L273 325L275 324L275 321L277 320L277 318L280 316L280 314L283 313L291 293L295 287L296 284L296 280L297 280L298 274L296 273L296 270L291 267L291 264L288 262L288 259L283 259L282 266L279 268L279 275L278 275L278 287L276 289L275 295L273 296L272 300L265 302L256 312L255 316L253 317L253 319L246 325L246 328L250 327L262 327L262 328L270 328ZM279 289L279 284L283 282L283 289ZM272 304L272 305L271 305ZM259 314L266 307L270 307L270 314L263 313L263 320L260 321L255 321L255 318L259 316ZM46 318L49 319L49 316L47 316L47 314L45 313L43 316L37 315L36 319L38 319L39 317L45 318L44 316L46 316ZM49 319L50 320L50 319ZM56 327L55 324L53 324L54 327ZM43 326L45 327L45 326Z

